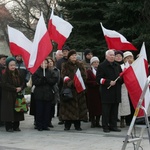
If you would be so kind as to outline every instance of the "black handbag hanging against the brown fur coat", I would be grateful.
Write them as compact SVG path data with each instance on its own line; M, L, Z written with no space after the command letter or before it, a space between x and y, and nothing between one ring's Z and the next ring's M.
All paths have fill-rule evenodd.
M68 87L63 87L60 96L62 101L69 102L73 99L72 90Z

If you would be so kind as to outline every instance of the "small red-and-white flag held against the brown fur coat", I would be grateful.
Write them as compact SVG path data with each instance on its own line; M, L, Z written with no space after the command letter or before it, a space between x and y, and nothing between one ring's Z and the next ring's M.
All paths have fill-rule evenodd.
M76 88L76 91L78 93L84 91L86 88L85 88L85 84L84 84L84 81L83 81L83 78L81 76L81 72L80 72L80 69L77 70L75 76L74 76L74 86Z

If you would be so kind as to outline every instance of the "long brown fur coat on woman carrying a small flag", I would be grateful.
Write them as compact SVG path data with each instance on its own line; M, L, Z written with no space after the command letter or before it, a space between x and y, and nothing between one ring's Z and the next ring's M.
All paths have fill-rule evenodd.
M68 60L62 66L61 76L64 78L68 76L70 80L67 83L64 83L63 86L70 87L73 92L73 100L70 102L61 102L60 115L63 120L87 120L87 106L85 99L85 92L77 93L74 87L74 76L77 69L80 69L81 76L83 80L86 80L86 71L82 63L75 62L72 63Z

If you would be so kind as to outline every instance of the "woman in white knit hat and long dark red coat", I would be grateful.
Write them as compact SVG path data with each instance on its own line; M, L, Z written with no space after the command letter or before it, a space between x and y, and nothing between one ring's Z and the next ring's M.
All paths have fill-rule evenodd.
M99 124L101 111L101 100L99 93L99 84L96 82L96 71L99 65L98 57L92 57L90 60L91 68L87 70L87 101L88 110L91 118L91 128L101 127Z

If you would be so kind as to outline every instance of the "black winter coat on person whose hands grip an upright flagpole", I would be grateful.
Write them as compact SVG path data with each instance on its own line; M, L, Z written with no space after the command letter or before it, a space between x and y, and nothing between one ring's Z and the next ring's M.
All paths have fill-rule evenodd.
M32 75L32 83L35 85L34 99L42 101L52 101L54 99L53 86L57 82L56 74L46 69L45 77L43 76L43 69L40 67Z

